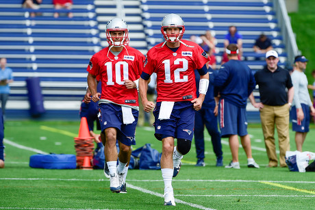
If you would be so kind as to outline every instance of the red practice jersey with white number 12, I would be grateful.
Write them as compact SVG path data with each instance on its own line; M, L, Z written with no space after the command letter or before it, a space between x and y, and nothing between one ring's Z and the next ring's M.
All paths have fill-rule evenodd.
M208 62L207 53L196 43L182 40L176 52L157 44L147 53L144 73L157 74L157 102L192 101L196 96L194 69Z

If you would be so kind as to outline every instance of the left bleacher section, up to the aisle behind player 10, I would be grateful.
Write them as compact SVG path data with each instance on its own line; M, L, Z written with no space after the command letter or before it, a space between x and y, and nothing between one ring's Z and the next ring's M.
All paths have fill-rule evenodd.
M7 105L10 118L29 117L25 79L40 77L47 116L77 115L86 90L86 66L101 49L94 1L73 1L73 18L52 1L39 10L21 8L21 0L0 1L0 56L7 57L14 83ZM29 15L36 12L35 17Z

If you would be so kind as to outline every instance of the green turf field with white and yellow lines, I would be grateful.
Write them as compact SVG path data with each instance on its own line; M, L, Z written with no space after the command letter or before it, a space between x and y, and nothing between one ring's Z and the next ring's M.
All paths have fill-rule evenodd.
M304 150L315 151L314 124ZM268 164L259 124L250 125L253 157L260 169L247 168L240 148L241 169L216 168L210 138L206 166L195 167L194 146L173 179L177 207L164 207L160 170L129 170L127 194L110 192L102 170L45 170L29 168L29 156L45 153L75 154L77 122L5 122L5 168L0 170L0 209L314 209L315 173L266 168ZM295 150L290 132L291 150ZM138 127L137 145L151 143L161 152L153 129ZM23 146L23 147L22 147ZM224 163L231 160L223 139Z

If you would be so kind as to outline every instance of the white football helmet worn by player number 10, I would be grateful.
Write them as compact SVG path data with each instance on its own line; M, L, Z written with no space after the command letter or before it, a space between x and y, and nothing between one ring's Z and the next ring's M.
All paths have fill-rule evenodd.
M114 37L111 36L110 31L124 31L124 36L121 37L120 41L114 41ZM108 21L108 25L106 25L106 38L108 44L113 45L114 47L128 45L129 37L127 23L121 18L112 18L112 20Z

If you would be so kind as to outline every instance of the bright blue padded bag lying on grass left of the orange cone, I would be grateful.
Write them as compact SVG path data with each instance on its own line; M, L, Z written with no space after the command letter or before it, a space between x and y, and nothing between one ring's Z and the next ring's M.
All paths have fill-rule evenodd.
M29 166L45 169L75 169L77 168L77 158L75 155L66 154L37 154L29 157Z

